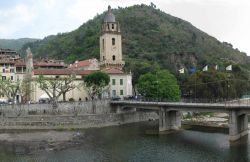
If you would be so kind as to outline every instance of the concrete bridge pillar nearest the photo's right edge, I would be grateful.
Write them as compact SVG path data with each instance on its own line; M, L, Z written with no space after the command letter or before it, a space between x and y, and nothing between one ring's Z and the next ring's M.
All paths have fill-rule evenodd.
M238 114L237 110L229 112L229 140L236 141L248 134L247 114Z

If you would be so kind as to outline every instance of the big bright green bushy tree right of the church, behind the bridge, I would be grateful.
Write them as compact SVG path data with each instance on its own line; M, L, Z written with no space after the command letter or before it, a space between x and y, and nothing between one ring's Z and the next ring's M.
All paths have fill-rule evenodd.
M156 74L141 75L136 86L138 92L146 98L180 100L180 88L177 80L167 70L160 70Z

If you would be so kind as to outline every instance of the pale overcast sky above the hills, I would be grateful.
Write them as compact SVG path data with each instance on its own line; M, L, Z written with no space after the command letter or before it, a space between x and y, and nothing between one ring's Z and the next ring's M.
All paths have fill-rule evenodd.
M250 0L0 0L0 38L72 31L97 13L150 4L250 55Z

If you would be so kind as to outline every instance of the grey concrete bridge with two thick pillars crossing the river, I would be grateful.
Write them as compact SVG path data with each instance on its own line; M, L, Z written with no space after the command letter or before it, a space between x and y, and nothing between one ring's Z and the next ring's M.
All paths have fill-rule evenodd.
M123 109L136 108L159 112L159 131L178 130L181 127L181 111L224 112L229 114L229 140L235 141L248 134L250 105L240 103L183 103L111 101L119 113Z

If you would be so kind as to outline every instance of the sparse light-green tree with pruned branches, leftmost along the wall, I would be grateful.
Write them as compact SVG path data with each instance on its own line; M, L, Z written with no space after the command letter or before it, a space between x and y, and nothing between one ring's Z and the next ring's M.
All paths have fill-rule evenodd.
M12 81L10 79L0 80L0 92L12 101L12 108L16 101L16 96L21 89L21 81Z

